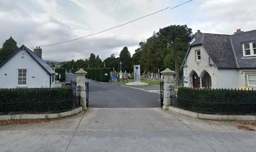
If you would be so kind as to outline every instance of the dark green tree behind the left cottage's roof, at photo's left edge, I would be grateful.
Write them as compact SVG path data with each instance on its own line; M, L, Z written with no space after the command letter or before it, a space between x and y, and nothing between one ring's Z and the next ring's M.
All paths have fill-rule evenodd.
M7 39L4 42L2 49L0 50L0 63L5 61L11 54L16 52L18 49L19 47L17 47L17 42L12 37Z

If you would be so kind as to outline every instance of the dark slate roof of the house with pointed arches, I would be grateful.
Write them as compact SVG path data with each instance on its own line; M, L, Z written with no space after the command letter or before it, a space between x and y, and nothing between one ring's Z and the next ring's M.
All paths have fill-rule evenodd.
M202 45L218 69L256 68L256 57L243 57L242 44L251 41L256 41L256 30L232 35L203 33L190 48Z

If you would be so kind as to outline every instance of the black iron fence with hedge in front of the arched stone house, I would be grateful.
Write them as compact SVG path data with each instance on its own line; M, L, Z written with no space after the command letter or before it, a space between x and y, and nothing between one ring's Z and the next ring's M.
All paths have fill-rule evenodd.
M205 114L256 114L256 91L242 89L171 88L171 105Z

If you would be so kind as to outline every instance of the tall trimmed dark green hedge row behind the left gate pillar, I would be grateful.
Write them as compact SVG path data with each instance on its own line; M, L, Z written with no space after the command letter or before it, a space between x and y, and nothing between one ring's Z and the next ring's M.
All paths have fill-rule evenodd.
M101 82L108 82L110 79L110 69L109 68L93 68L86 69L87 78L93 79Z

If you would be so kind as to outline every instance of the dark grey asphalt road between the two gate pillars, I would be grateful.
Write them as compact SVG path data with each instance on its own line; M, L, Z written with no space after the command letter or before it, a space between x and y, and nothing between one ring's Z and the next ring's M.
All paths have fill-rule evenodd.
M160 107L160 95L120 84L89 82L89 107Z

